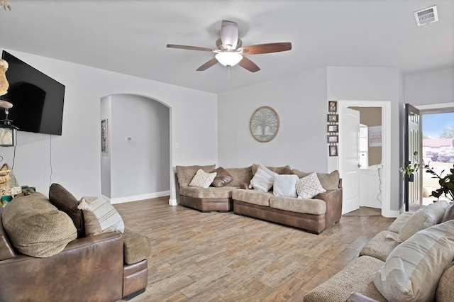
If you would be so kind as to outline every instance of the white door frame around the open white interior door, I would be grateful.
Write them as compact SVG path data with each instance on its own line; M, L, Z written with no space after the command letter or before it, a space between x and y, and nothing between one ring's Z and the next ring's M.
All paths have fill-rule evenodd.
M391 101L353 101L338 100L339 107L381 107L382 108L382 216L396 217L391 211ZM342 116L339 116L342 118ZM342 129L339 129L342 131ZM328 169L338 169L342 164L339 157L328 156Z

